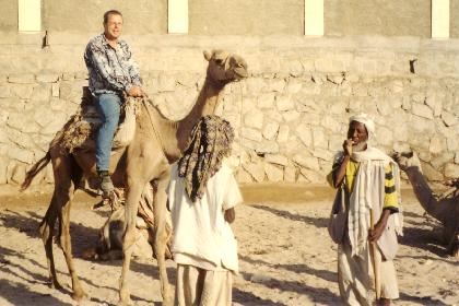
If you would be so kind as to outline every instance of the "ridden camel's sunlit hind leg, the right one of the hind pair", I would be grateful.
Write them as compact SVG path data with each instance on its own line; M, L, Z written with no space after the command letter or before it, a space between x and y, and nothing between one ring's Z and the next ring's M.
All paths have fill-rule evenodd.
M73 189L73 188L72 188ZM72 279L72 290L73 294L72 297L75 301L80 301L85 297L85 293L81 286L80 280L76 274L76 270L73 264L73 256L72 256L72 244L70 240L70 209L71 209L71 193L72 190L69 190L68 193L68 201L66 205L60 210L60 246L63 251L63 256L66 257L67 267L69 269L70 278Z

